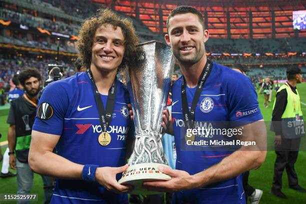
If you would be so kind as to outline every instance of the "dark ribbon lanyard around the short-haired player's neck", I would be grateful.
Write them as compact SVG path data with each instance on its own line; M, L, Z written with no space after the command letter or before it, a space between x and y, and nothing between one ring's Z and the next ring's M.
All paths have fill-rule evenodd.
M208 78L210 71L211 71L211 65L212 62L207 59L206 64L202 70L202 73L199 77L199 81L197 82L196 90L192 99L191 103L191 108L189 111L188 108L188 102L187 102L187 96L186 96L186 87L185 87L185 78L182 78L181 82L181 104L182 104L182 112L183 112L183 117L186 122L186 125L188 128L191 128L191 123L194 120L194 112L196 108L196 103L199 99L199 96L202 92L202 89L204 87L205 81Z

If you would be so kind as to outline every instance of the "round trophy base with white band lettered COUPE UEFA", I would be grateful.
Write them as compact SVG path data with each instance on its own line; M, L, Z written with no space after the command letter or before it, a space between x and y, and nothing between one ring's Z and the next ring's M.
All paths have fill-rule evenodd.
M162 192L147 190L142 187L144 181L170 180L171 176L158 170L158 166L163 165L171 168L168 165L161 163L137 163L128 166L123 172L122 177L118 181L119 184L129 184L134 187L130 194L158 194Z

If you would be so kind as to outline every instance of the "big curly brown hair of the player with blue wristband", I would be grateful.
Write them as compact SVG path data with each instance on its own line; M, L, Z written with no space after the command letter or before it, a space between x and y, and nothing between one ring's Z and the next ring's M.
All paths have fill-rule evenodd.
M119 17L113 11L105 8L98 9L96 15L85 19L78 33L79 58L82 66L89 68L91 63L91 50L93 38L96 29L104 24L113 25L114 28L120 27L124 36L124 54L118 70L125 65L132 64L138 55L138 48L136 45L139 43L139 38L135 32L131 20Z

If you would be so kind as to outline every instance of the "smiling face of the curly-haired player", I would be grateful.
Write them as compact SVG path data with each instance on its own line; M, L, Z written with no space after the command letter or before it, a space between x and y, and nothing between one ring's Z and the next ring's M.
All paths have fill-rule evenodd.
M94 34L91 50L91 68L113 71L122 62L124 36L120 27L110 24L99 26Z

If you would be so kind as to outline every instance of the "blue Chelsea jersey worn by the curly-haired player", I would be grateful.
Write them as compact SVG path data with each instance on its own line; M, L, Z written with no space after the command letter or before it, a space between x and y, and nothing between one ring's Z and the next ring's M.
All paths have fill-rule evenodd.
M101 98L105 108L107 95L101 95ZM112 120L107 128L111 140L102 146L98 142L102 128L93 84L85 72L76 73L46 86L39 99L32 129L60 135L56 152L72 162L118 167L125 164L126 137L133 134L128 103L127 90L117 81ZM127 194L108 191L98 183L57 179L51 202L125 203Z

